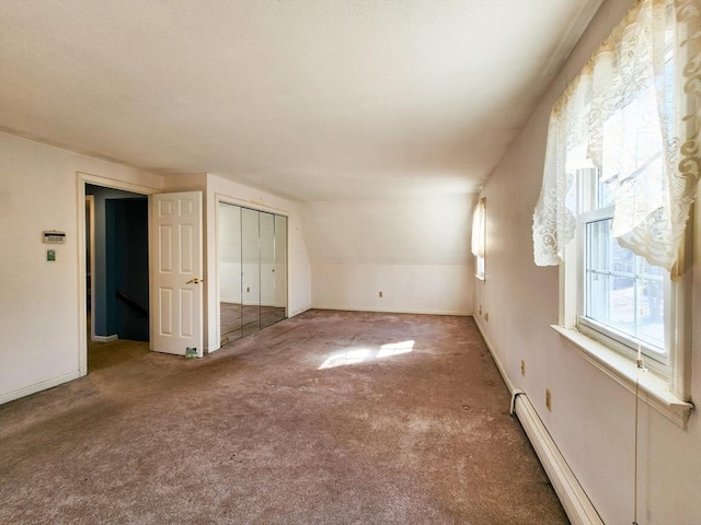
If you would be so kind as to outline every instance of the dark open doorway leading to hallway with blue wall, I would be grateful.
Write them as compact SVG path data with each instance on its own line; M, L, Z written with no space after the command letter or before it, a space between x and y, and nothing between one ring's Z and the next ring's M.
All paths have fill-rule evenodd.
M149 352L148 197L94 184L84 195L90 373Z

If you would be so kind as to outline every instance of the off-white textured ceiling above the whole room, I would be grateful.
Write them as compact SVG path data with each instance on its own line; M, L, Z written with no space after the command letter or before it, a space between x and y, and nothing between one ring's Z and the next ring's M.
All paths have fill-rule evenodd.
M599 3L1 0L0 126L301 200L470 192Z

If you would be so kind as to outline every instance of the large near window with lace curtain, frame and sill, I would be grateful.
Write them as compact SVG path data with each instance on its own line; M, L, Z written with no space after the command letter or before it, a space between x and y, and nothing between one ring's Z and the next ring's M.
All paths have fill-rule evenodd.
M698 0L633 4L553 106L533 214L536 264L563 265L556 329L682 424L700 35Z

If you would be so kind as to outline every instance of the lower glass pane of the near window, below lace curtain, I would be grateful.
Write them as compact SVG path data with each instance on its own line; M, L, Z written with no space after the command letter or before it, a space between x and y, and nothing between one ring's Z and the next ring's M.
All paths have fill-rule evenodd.
M665 354L667 275L619 246L611 222L586 223L585 315Z

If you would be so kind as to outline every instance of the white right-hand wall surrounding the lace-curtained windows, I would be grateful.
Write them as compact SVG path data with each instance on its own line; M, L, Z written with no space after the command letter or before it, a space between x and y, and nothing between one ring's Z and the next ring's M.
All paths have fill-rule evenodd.
M485 185L486 281L475 315L515 388L540 418L607 524L633 518L635 400L550 328L558 323L559 270L536 267L532 213L540 191L550 108L630 2L605 2L530 120ZM701 213L696 219L692 399L701 400ZM485 315L490 314L486 322ZM520 360L526 375L520 374ZM552 390L552 411L544 407ZM701 415L681 430L641 405L639 523L686 525L701 517Z

